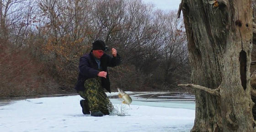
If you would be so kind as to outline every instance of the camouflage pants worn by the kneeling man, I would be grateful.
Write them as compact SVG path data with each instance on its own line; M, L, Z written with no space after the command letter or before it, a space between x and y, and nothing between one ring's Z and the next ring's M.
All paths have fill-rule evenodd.
M100 78L85 80L85 91L79 91L78 94L85 100L88 100L91 112L101 111L103 114L109 115L113 111L113 105L101 87ZM85 102L87 103L87 101Z

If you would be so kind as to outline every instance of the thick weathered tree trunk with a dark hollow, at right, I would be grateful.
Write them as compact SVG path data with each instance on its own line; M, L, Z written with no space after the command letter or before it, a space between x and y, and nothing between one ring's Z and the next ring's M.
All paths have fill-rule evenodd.
M253 132L251 0L182 1L192 83L206 87L191 132Z

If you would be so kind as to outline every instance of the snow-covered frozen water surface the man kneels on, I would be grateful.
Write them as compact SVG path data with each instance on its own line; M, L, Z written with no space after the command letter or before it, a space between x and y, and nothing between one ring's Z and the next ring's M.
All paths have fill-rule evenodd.
M194 96L127 93L130 107L117 93L107 94L116 109L103 117L83 115L79 95L13 101L0 106L0 132L189 132L193 127Z

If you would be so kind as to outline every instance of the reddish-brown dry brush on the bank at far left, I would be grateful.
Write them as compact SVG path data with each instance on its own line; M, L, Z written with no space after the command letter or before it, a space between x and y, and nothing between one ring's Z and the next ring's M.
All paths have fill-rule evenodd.
M57 83L44 64L32 58L26 49L12 50L0 44L0 97L56 93Z

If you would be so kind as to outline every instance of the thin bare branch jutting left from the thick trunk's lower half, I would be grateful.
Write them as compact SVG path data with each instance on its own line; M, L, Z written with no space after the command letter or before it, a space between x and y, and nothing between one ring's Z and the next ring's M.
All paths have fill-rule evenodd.
M217 95L217 96L220 95L219 94L219 88L213 90L213 89L209 89L207 87L203 87L203 86L195 85L195 84L178 84L178 86L180 86L180 87L190 87L190 88L194 88L194 89L198 89L198 90L203 90L203 91L208 92L211 95Z

